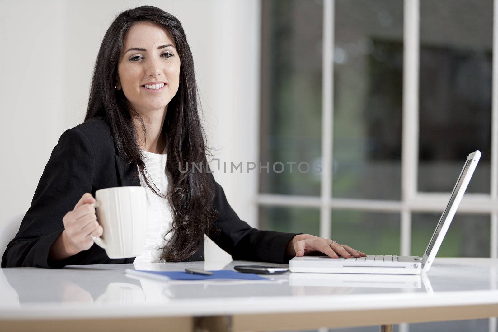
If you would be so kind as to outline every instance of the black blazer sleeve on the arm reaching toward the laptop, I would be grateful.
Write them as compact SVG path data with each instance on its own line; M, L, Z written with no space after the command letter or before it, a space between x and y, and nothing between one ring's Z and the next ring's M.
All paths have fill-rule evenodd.
M259 230L242 221L230 207L222 186L217 183L212 173L209 173L215 185L213 208L220 213L213 228L218 232L208 233L218 246L232 255L234 260L249 260L288 264L289 257L285 254L287 243L298 234L284 233L272 230Z

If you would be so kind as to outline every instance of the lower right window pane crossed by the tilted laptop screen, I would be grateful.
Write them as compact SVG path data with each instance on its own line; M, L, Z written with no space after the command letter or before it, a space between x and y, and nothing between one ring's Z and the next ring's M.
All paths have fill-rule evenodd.
M412 215L412 255L424 255L439 218L441 214ZM490 257L490 216L455 215L436 257Z

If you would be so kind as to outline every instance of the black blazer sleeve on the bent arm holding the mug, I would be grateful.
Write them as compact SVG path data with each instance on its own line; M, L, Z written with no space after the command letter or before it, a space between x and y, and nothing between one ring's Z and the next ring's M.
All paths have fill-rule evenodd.
M94 159L92 144L84 132L71 128L62 133L43 170L19 231L3 253L1 267L60 268L81 264L83 258L89 255L90 249L52 261L49 251L64 230L62 218L74 209L84 193L92 192ZM94 246L91 249L95 250Z

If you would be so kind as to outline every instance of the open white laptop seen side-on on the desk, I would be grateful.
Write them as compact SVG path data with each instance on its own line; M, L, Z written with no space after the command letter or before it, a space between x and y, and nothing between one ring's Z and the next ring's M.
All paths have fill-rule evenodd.
M293 257L289 261L291 272L323 272L323 273L380 273L380 274L418 274L422 270L427 272L443 238L455 216L458 205L464 196L469 181L474 174L481 152L476 150L469 154L464 168L460 172L455 188L443 215L432 234L429 245L422 259L418 256L373 256L360 258L331 258L329 256L302 256Z

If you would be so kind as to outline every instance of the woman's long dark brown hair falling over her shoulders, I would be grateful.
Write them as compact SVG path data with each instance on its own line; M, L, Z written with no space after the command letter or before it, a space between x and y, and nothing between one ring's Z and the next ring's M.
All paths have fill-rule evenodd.
M168 104L161 132L167 138L165 172L171 175L171 189L165 195L151 186L144 172L143 155L136 142L131 116L138 119L145 134L143 120L128 103L123 89L115 89L124 37L130 27L139 21L154 22L171 33L181 59L181 84ZM208 149L197 108L197 89L192 52L183 27L175 16L160 8L145 5L125 10L116 17L97 55L85 121L103 116L111 127L120 154L129 164L138 165L135 179L141 173L146 185L156 195L166 201L170 199L173 227L164 238L169 232L174 233L162 248L161 261L181 261L193 255L203 243L204 234L214 230L211 228L212 223L219 217L219 213L211 206L214 184L206 172L209 169L206 159ZM212 156L212 153L209 154ZM188 167L193 163L205 165L203 171L197 168L194 171L194 167ZM186 169L188 171L185 172Z

